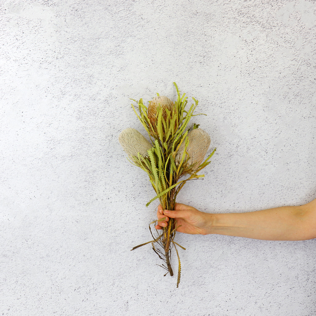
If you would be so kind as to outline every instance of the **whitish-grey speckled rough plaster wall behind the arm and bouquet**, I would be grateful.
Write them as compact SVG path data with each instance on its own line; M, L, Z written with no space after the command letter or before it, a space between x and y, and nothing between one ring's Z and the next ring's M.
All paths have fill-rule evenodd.
M145 135L129 98L176 81L217 148L179 202L316 198L314 1L0 4L1 315L316 314L315 240L179 234L179 289L150 246L131 252L157 204L118 143Z

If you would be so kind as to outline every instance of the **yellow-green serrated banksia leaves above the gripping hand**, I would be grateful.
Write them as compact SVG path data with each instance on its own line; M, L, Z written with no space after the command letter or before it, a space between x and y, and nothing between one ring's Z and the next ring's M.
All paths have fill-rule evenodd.
M193 112L198 101L193 98L194 103L186 111L187 97L185 97L185 94L181 96L175 82L174 85L177 89L178 100L174 104L173 111L169 111L167 107L157 106L155 120L149 119L148 108L144 106L142 99L137 102L139 114L132 105L153 143L153 147L148 150L147 157L138 155L133 158L134 164L148 173L150 182L157 193L157 196L151 199L146 206L156 198L159 198L164 209L172 209L174 207L175 197L187 180L204 177L204 175L197 175L197 173L210 163L209 160L216 150L214 149L202 164L192 167L194 161L192 162L189 153L190 149L193 152L193 148L192 146L190 148L190 138L187 137L188 131L186 129L190 119L194 116ZM156 124L155 128L153 124ZM194 131L195 129L190 131L190 134ZM206 134L206 132L204 133ZM198 145L197 141L195 141L194 146ZM208 146L209 143L207 148ZM203 150L205 155L205 144ZM186 155L177 155L178 151L186 153ZM179 180L185 174L189 174L189 177Z

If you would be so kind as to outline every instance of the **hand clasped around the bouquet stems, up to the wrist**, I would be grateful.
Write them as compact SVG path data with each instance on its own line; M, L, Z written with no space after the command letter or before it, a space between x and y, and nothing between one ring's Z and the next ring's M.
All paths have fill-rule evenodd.
M161 220L164 218L164 220ZM157 218L158 225L156 229L162 229L167 226L167 222L170 218L177 220L176 231L185 234L210 234L210 228L212 224L212 214L200 212L194 207L176 203L175 210L162 210L161 204L158 206Z

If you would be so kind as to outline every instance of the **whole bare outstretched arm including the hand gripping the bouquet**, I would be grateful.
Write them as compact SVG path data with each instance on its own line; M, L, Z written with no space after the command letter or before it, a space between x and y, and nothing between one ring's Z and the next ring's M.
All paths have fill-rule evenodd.
M307 240L316 238L316 199L301 206L284 206L247 213L210 214L193 207L176 204L175 211L162 212L166 217L156 226L167 225L169 217L176 218L177 230L187 234L221 234L261 240Z

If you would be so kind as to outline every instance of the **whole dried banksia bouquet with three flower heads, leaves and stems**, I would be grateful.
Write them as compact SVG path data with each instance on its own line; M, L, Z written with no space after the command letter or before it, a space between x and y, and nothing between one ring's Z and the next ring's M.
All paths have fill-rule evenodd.
M119 142L131 163L148 174L156 192L156 196L146 206L159 199L164 210L174 210L176 197L186 181L204 177L204 174L197 173L210 163L210 158L216 150L214 149L204 160L211 141L209 134L198 128L196 124L188 129L190 119L195 116L193 112L198 101L192 98L194 103L185 110L187 98L185 94L180 95L175 82L174 86L178 93L178 100L175 102L159 94L149 101L148 107L143 104L142 99L138 102L133 100L137 102L139 113L134 105L132 105L133 109L151 142L133 128L125 129L119 135ZM174 241L177 222L170 218L167 227L164 227L161 233L157 230L153 233L150 227L152 224L156 224L156 221L149 224L153 240L138 245L132 250L151 243L154 252L165 262L161 266L173 276L170 257L171 250L174 248L179 263L178 287L181 264L177 246L183 247Z

